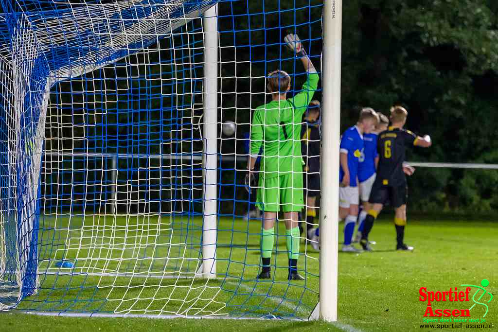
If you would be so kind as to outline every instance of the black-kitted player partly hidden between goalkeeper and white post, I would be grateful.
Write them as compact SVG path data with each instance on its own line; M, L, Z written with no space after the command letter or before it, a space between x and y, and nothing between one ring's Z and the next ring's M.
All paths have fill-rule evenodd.
M300 225L301 233L304 230L313 231L314 219L317 215L316 199L320 195L320 102L311 101L306 112L305 122L301 126L301 153L303 155L305 176L304 189L306 200L306 227ZM307 234L311 239L312 235ZM311 242L313 248L318 250L318 242Z

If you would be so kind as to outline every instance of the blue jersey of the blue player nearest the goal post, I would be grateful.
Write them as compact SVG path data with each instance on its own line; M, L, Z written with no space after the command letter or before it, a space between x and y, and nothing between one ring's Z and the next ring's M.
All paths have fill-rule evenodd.
M348 154L348 168L350 176L350 187L357 186L358 164L363 151L363 135L360 134L357 126L352 126L346 130L341 139L341 152ZM339 170L339 181L342 182L344 171Z

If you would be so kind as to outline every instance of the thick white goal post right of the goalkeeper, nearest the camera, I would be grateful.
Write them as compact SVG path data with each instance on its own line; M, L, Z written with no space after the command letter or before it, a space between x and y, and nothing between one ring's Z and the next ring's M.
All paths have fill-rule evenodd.
M337 321L339 144L342 0L324 0L322 50L322 196L320 201L320 318Z

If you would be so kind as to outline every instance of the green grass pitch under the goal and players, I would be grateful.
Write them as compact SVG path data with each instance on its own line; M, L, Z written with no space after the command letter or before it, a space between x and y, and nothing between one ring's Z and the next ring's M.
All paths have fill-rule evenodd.
M283 233L283 228L283 225L279 227L279 234ZM229 231L229 229L235 229L235 231ZM342 232L342 225L340 232ZM56 276L47 276L42 283L46 285L44 287L46 289L42 289L35 297L29 298L19 308L57 310L69 307L69 310L73 311L98 309L126 313L143 313L145 309L154 312L154 310L167 308L167 311L171 313L188 314L199 312L201 308L202 313L230 313L248 317L260 317L266 314L294 315L305 318L317 301L318 261L316 258L318 253L314 252L311 246L307 246L305 251L304 245L301 245L301 252L305 252L307 258L305 262L301 259L300 268L306 266L307 280L306 283L289 284L285 280L287 265L285 239L278 237L277 251L273 255L276 257L274 263L277 266L274 280L256 283L254 276L257 273L259 260L258 233L259 224L255 221L249 223L243 220L221 221L218 272L227 272L229 277L210 282L208 286L211 288L206 288L206 282L202 280L192 282L191 279L178 278L172 279L174 282L161 279L147 279L144 282L143 279L138 278L87 276L82 283L82 280L78 279L83 278L82 276L70 274L66 278L72 277L73 280L58 281ZM150 236L154 237L157 234ZM440 331L441 329L437 326L421 327L422 324L440 324L440 322L423 322L427 303L419 301L420 287L427 287L428 291L441 292L454 287L461 290L462 284L480 285L482 279L488 279L490 281L487 287L488 292L494 296L498 294L498 249L496 246L498 225L496 223L458 218L437 221L410 218L405 239L408 244L415 246L414 252L395 251L394 237L392 222L378 221L371 235L371 239L377 241L374 246L375 252L339 253L339 324L336 325L280 320L235 322L231 320L54 318L20 314L14 310L12 314L0 316L2 322L0 330L8 328L8 331L27 329L46 331L57 327L58 331L99 329L102 331L155 331L159 329L166 331L198 331L199 329L205 331L241 331L241 329L248 331ZM133 241L136 242L136 238ZM147 239L143 241L146 242ZM125 241L123 243L123 248L125 248ZM248 243L247 246L246 243ZM166 250L166 247L162 249ZM150 249L143 250L146 252ZM195 252L195 248L192 248L189 251L190 256L194 257ZM182 257L188 256L186 251L182 253ZM110 252L106 255L111 257L112 262L112 259L116 258L113 255L117 253ZM95 255L85 252L83 256L94 257ZM157 256L164 256L164 254L159 253ZM144 255L144 257L154 257L154 255ZM150 267L150 259L144 258L142 263ZM160 262L160 264L163 263ZM86 264L90 263L86 262ZM93 264L90 266L93 266L95 271L103 269L99 263L93 262ZM108 265L108 269L116 269L116 267L111 268ZM136 264L133 268L133 271L139 271ZM185 273L188 272L187 270ZM90 286L97 284L113 287L100 289ZM53 289L53 285L56 285L56 290ZM88 285L88 287L82 287L82 285ZM170 287L172 285L176 287ZM157 299L157 301L150 305L148 301L150 298ZM214 302L208 300L212 298L215 298ZM49 299L48 302L47 299ZM109 301L109 299L116 301ZM498 324L498 302L495 304L495 301L498 299L494 299L489 304L489 313L485 318L486 324L492 324L493 328L496 328L495 324ZM165 303L168 303L166 307ZM468 309L465 307L467 303L438 302L432 306L434 310ZM476 306L471 311L471 318L482 318L484 312L484 307ZM443 329L445 330L467 331L465 323L464 329ZM489 330L489 328L473 328L469 331Z

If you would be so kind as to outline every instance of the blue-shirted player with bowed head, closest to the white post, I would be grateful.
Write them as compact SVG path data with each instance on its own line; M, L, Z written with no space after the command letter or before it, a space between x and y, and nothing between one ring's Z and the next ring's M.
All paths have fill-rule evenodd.
M375 111L366 109L360 112L356 125L347 129L341 139L339 170L339 218L344 219L344 244L342 251L359 252L351 241L358 218L359 189L358 164L364 148L363 134L372 131L377 123Z

